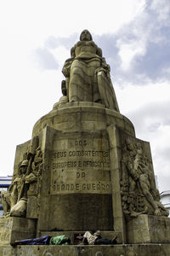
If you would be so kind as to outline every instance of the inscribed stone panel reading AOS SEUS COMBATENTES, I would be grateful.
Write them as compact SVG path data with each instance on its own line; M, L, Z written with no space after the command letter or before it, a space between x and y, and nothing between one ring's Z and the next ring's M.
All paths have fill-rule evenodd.
M51 195L111 194L111 163L105 131L57 134L50 155Z

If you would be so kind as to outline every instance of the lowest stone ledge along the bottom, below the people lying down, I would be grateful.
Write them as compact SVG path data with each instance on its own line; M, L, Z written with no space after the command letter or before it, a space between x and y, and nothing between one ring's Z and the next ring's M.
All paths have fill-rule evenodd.
M170 244L114 246L0 246L2 256L169 256Z

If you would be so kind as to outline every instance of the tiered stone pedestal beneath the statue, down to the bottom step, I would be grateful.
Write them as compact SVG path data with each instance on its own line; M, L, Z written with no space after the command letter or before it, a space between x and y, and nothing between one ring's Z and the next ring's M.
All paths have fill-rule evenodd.
M169 218L153 216L153 208L139 189L139 177L136 183L134 180L130 183L133 176L130 181L132 173L129 174L127 170L129 154L133 159L136 152L142 152L143 160L150 162L150 168L152 166L150 144L135 137L133 125L127 118L114 110L105 109L101 104L70 102L39 119L33 128L33 137L38 137L38 150L42 153L41 164L37 164L36 156L34 162L34 167L37 165L34 170L39 176L27 192L26 218L1 219L1 244L60 234L69 236L74 243L74 236L78 232L101 230L104 238L111 239L116 234L119 245L69 246L64 249L12 249L7 246L3 250L9 253L4 255L11 252L14 256L26 252L36 256L41 253L65 256L110 256L113 253L160 256L161 252L168 255ZM135 150L127 148L129 142ZM15 173L22 160L20 155L26 154L30 143L17 147ZM152 188L155 188L154 179L151 182ZM133 191L130 191L130 185ZM139 215L146 208L148 214ZM131 213L139 217L133 218ZM54 233L54 230L60 231ZM144 243L145 246L141 246ZM157 245L148 246L148 243ZM158 243L167 245L159 247Z

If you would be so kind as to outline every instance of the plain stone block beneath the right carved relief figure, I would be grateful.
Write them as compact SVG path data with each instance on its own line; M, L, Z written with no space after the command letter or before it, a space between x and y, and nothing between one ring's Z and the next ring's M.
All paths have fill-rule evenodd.
M170 241L170 218L142 214L127 221L129 243L166 243Z

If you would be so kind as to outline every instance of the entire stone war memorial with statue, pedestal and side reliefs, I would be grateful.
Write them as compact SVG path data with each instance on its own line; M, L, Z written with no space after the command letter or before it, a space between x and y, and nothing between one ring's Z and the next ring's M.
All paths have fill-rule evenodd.
M63 96L17 146L3 192L1 256L169 256L170 219L156 189L150 143L120 113L110 66L84 30L65 61ZM100 230L114 245L79 244ZM70 245L17 245L41 236Z

